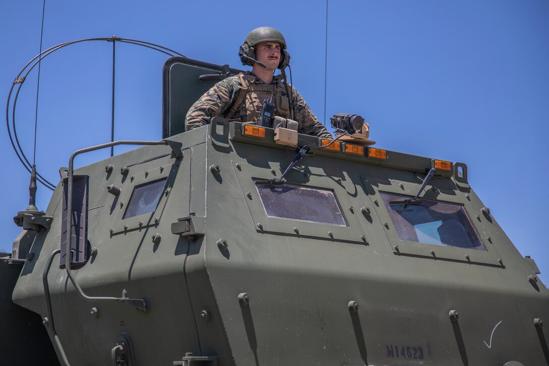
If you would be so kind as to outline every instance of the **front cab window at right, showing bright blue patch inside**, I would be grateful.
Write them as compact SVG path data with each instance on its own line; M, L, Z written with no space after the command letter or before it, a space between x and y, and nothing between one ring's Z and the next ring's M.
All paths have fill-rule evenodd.
M422 199L404 204L405 196L380 192L400 240L485 251L463 205Z

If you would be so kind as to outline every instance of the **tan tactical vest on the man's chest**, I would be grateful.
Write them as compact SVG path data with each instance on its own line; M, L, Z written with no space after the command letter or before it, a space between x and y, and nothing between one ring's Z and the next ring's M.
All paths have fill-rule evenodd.
M281 80L275 81L273 84L255 84L254 80L256 76L248 74L238 74L242 89L238 93L234 104L227 113L227 118L231 119L238 112L243 103L246 103L247 120L244 122L254 122L257 124L259 116L261 114L261 108L265 99L270 100L271 95L273 97L273 103L275 104L275 116L282 118L292 118L290 113L290 99L285 94L286 90ZM275 93L273 94L273 87L275 87Z

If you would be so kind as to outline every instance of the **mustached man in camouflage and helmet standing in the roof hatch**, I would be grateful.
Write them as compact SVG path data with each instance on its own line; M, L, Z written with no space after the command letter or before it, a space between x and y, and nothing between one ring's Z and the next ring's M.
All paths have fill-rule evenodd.
M281 32L271 27L254 29L240 46L239 56L243 65L252 66L251 72L227 77L200 97L187 112L186 130L209 124L212 117L257 124L263 101L272 98L275 115L297 121L299 133L332 138L298 91L285 82L290 55ZM273 76L276 69L284 77Z

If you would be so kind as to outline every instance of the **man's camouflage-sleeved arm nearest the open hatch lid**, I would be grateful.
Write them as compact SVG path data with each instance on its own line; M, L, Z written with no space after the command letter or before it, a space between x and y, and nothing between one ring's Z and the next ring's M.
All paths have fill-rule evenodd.
M185 129L188 131L204 126L210 123L212 117L222 116L234 103L234 98L238 95L240 87L231 77L212 86L187 112Z

